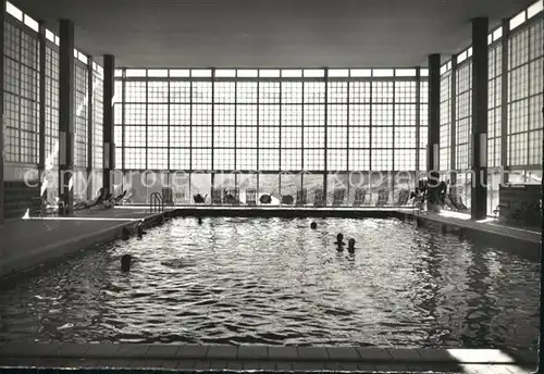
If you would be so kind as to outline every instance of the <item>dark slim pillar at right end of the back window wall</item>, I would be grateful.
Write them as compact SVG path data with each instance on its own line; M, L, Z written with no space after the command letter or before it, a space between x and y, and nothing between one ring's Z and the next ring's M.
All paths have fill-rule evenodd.
M426 171L440 170L441 139L441 55L429 57L429 144L426 146Z

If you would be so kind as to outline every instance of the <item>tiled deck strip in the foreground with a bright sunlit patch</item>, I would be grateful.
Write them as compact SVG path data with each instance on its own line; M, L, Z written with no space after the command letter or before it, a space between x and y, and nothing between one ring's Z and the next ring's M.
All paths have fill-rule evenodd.
M0 344L0 366L521 374L534 371L536 353L493 349L10 342Z

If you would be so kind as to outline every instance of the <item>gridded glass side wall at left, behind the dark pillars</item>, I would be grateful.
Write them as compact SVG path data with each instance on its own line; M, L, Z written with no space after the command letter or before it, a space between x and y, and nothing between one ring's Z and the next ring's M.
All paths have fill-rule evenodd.
M7 3L4 22L4 144L8 180L22 180L25 171L40 172L47 184L46 199L53 202L59 195L59 37L47 28L40 35L38 23ZM41 45L44 42L44 45ZM40 68L40 47L45 65ZM94 189L101 187L102 142L102 67L89 64L88 58L74 50L74 163L76 185L85 186L89 174L99 172ZM89 94L89 71L92 70L95 91ZM40 101L40 78L45 96ZM92 113L89 116L89 103ZM40 160L40 110L44 110L45 157ZM92 135L91 137L89 135ZM94 139L92 164L89 141ZM34 175L34 174L33 174ZM86 200L92 190L81 188L76 200Z

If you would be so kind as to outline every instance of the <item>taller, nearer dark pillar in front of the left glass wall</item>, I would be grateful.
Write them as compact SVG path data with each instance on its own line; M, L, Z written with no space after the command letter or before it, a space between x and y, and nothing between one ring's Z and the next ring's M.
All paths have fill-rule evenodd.
M59 22L59 195L67 213L73 211L74 189L74 23Z

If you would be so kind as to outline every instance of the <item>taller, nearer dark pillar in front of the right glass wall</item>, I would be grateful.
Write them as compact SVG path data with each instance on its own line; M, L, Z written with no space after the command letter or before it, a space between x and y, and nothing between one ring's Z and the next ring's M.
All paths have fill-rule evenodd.
M487 215L489 25L485 17L472 20L472 220Z

